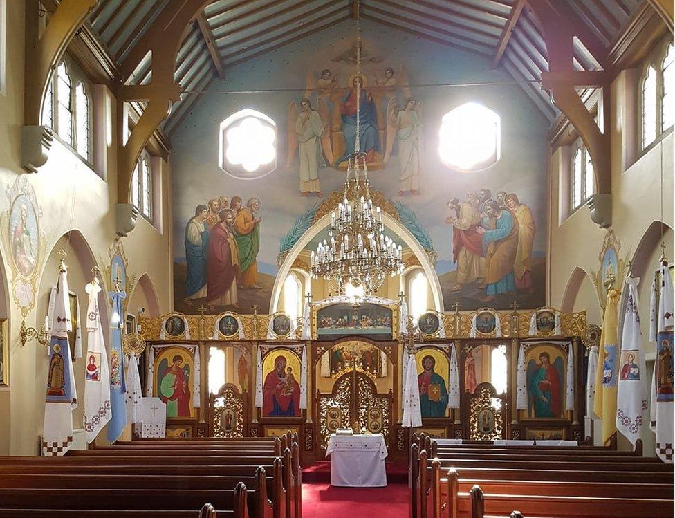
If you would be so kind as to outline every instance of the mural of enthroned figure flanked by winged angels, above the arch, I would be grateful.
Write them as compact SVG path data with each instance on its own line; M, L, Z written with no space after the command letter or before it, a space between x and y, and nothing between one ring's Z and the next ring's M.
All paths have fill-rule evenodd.
M352 62L351 57L344 56L351 55L355 48L333 58L333 62ZM362 61L364 53L362 50ZM369 64L381 61L375 56L365 60ZM320 169L344 168L355 149L357 132L360 151L370 167L383 167L392 154L398 154L399 196L420 194L422 103L410 96L405 68L400 66L395 71L391 66L370 65L360 75L349 75L344 86L340 86L334 68L322 68L320 73L317 70L314 66L306 75L304 97L288 106L286 166L292 167L298 156L301 196L322 197ZM376 88L369 88L369 83Z

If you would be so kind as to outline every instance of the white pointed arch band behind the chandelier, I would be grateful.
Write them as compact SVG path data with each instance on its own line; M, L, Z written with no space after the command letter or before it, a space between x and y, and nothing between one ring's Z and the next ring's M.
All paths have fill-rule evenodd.
M434 270L434 265L427 259L423 248L420 246L420 243L415 239L415 237L403 226L401 223L396 221L396 219L382 212L382 221L385 223L385 227L392 234L396 234L398 238L405 243L405 246L410 248L413 255L418 259L420 267L423 269L427 281L429 282L429 289L432 293L432 299L434 302L434 308L436 311L443 311L443 297L441 296L441 283L438 281L438 275L436 275L436 270ZM319 221L314 223L309 230L307 230L302 237L297 240L293 248L290 249L286 259L281 264L277 277L275 279L274 287L272 288L272 298L270 299L270 313L274 313L276 308L279 307L279 299L281 297L281 290L284 288L284 280L293 268L293 263L295 259L300 255L300 252L306 248L307 244L315 237L317 234L322 232L326 227L331 223L331 213L325 214Z

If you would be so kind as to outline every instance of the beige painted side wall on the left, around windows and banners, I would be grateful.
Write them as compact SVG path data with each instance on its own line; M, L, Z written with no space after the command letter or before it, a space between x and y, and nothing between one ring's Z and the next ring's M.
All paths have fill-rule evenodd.
M14 184L19 174L26 174L20 166L21 127L24 124L24 2L7 3L7 91L0 95L0 186L4 190ZM36 326L44 322L46 314L46 293L53 286L56 275L56 258L53 252L62 247L59 239L69 230L77 230L91 250L86 261L79 261L72 250L73 243L63 248L71 248L67 262L71 267L70 288L81 294L80 304L84 304L84 283L91 279L91 263L95 262L104 271L109 265L109 248L115 239L115 202L117 199L116 146L117 135L102 135L104 127L115 128L115 99L104 90L111 100L109 124L95 127L95 138L109 140L105 147L106 179L95 174L80 158L77 158L64 145L55 141L50 150L50 158L37 174L27 174L30 185L35 189L37 201L41 207L41 231L44 232L46 252L43 263L36 268L44 275L37 283L37 304L26 317L27 326ZM103 103L101 103L103 104ZM95 111L99 107L94 107ZM96 117L95 117L96 119ZM160 162L160 160L159 160ZM160 183L162 221L159 232L145 219L139 218L136 230L124 238L122 243L129 259L128 275L139 279L147 275L147 284L151 284L160 313L170 310L172 300L170 275L170 238L171 219L168 214L169 167L161 163L156 170L156 182ZM0 213L9 210L9 200L0 197ZM7 234L8 228L0 228L1 234ZM68 251L68 250L66 250ZM0 243L0 255L3 259L3 277L9 279L12 287L12 269L8 262L8 250L4 240ZM48 258L48 259L47 259ZM147 290L147 286L146 286ZM140 298L139 298L140 297ZM144 301L142 296L131 294L132 301ZM144 302L138 302L143 304ZM136 304L136 302L134 302ZM15 304L10 304L10 389L0 391L0 454L33 455L38 452L38 437L42 429L44 414L44 383L46 380L46 355L41 346L30 342L25 348L19 342L21 313ZM133 306L131 306L133 308ZM136 308L133 308L135 311ZM83 346L86 350L86 343ZM78 365L79 364L79 365ZM81 360L75 364L78 374L78 393L82 397ZM7 418L4 418L7 416ZM82 426L82 407L74 414L75 428Z

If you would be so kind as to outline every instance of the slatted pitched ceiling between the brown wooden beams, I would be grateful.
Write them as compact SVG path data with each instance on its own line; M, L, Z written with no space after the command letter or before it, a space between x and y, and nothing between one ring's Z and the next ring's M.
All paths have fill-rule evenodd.
M100 0L89 18L93 33L121 63L170 1ZM639 0L555 0L564 2L608 51L640 7ZM202 91L228 68L355 16L353 0L216 0L190 26L176 63L183 91ZM558 115L537 81L548 71L546 44L524 0L361 0L362 19L430 41L461 48L503 67L549 120ZM575 39L577 70L598 61ZM151 81L149 59L129 82ZM170 132L198 95L183 95L165 122Z

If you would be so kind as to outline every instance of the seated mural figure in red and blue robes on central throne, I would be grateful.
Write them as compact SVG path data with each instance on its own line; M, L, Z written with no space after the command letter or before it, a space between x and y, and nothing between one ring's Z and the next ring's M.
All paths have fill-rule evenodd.
M344 162L354 152L356 145L356 94L360 77L354 77L353 87L340 103L340 120L342 120L342 134L344 135L344 154L335 160L335 167ZM366 154L366 161L372 162L375 151L380 151L380 134L378 133L378 115L373 96L361 90L360 95L360 151Z

